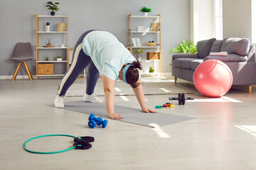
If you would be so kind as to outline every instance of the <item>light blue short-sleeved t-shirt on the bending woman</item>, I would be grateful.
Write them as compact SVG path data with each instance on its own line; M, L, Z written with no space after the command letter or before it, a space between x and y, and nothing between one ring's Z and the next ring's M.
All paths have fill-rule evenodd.
M89 55L100 74L117 80L122 66L136 59L114 35L94 30L82 41L82 50Z

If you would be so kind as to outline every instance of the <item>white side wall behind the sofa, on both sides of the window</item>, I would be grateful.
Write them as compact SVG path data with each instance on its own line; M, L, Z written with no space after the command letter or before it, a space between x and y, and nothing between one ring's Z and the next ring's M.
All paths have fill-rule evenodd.
M191 0L191 40L214 37L213 0ZM223 38L256 43L256 0L223 0Z

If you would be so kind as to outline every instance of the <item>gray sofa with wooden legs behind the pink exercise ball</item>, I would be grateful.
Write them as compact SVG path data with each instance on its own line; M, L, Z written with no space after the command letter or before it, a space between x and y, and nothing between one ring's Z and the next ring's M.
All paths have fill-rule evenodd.
M193 72L206 60L220 60L230 67L232 85L248 85L249 92L256 84L255 46L247 38L225 38L224 40L202 40L197 43L196 54L175 54L172 56L171 73L177 78L193 82ZM228 56L212 56L210 52L228 52Z

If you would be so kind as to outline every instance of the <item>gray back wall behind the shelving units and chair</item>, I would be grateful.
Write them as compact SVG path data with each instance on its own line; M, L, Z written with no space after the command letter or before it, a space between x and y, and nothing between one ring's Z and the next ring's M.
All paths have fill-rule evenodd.
M90 29L107 30L128 46L128 14L142 15L140 8L152 9L151 15L161 13L162 72L171 72L169 51L181 40L190 37L190 0L59 0L60 11L68 13L69 47L75 45L82 33ZM12 75L17 63L11 55L17 42L31 42L36 46L36 13L49 15L46 0L0 0L0 76ZM31 74L36 74L34 60L28 62ZM26 75L21 68L18 75Z

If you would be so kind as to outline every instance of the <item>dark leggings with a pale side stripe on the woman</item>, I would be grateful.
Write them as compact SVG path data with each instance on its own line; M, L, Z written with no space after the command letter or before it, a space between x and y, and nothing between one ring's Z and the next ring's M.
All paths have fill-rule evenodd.
M90 33L93 30L88 30L83 33L78 41L75 43L73 51L73 59L70 65L70 69L65 73L61 83L60 88L58 89L59 96L65 96L68 88L74 83L75 79L78 78L80 73L88 66L87 77L86 77L86 94L91 95L94 92L97 79L100 75L99 71L93 64L90 56L85 55L85 52L82 50L82 40L85 38L85 35Z

